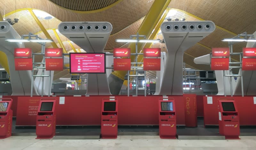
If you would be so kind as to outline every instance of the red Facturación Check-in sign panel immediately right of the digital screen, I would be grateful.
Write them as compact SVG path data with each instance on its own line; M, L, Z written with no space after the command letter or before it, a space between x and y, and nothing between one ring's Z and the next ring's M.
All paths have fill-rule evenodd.
M114 58L114 70L131 70L131 59Z

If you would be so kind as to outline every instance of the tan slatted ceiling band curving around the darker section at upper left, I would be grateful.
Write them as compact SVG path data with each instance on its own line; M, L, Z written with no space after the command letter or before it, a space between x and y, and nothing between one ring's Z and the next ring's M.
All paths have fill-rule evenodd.
M0 0L0 2L0 10L5 10L5 13L15 10L15 0ZM139 0L134 3L134 0L124 0L104 11L95 13L77 13L64 9L59 5L54 5L48 0L19 0L17 1L16 9L40 9L48 12L61 21L108 21L113 25L113 34L144 17L148 13L153 2L154 0ZM3 13L3 11L1 11L1 13Z

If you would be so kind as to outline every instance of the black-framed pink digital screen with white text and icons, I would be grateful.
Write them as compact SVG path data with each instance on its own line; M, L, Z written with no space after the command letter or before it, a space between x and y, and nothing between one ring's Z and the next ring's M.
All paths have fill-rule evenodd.
M69 53L70 73L106 73L105 53Z

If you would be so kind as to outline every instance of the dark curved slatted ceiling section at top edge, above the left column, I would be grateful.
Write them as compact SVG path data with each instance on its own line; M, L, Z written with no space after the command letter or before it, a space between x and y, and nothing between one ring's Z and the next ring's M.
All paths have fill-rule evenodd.
M61 7L74 11L93 11L107 7L118 0L50 0Z

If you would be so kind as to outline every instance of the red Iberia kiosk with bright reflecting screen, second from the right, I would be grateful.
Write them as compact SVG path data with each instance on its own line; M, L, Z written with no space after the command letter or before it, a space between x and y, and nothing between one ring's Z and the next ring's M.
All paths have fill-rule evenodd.
M159 136L176 139L176 112L173 98L159 98Z

